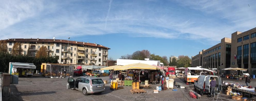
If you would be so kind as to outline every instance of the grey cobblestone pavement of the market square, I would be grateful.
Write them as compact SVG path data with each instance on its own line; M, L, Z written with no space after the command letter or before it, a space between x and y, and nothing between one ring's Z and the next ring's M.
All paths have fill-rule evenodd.
M116 77L114 75L113 77ZM77 78L77 77L74 77ZM108 80L109 77L101 77L103 80ZM189 90L194 90L194 84L185 85L184 80L175 79L176 84L185 86L185 89L176 88L178 91L172 89L153 93L157 85L150 85L150 88L143 88L146 93L132 94L130 89L132 86L124 86L124 89L111 91L109 84L105 84L105 92L101 94L89 94L84 96L81 91L66 89L67 78L53 79L43 77L33 78L19 78L19 84L11 85L10 97L4 98L9 101L29 100L29 101L94 101L94 100L115 100L115 101L194 101L194 100L212 100L213 97L203 95L201 99L193 99L189 96ZM223 82L233 82L243 84L244 80L230 80L223 78ZM245 83L244 83L245 84ZM256 80L250 83L252 86L256 85ZM223 101L232 100L231 96L221 94Z

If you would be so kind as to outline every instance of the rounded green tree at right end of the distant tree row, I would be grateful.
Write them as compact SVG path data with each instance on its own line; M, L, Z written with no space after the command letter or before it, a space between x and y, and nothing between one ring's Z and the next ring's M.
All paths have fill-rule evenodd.
M191 59L189 58L189 56L184 56L184 55L180 55L178 57L178 61L177 61L177 67L191 67Z

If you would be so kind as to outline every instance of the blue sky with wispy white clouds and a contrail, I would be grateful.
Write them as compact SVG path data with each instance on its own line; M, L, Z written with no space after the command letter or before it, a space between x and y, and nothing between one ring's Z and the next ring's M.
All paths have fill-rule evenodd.
M143 49L191 57L235 31L256 27L256 1L0 2L0 39L71 37L110 47L114 60Z

